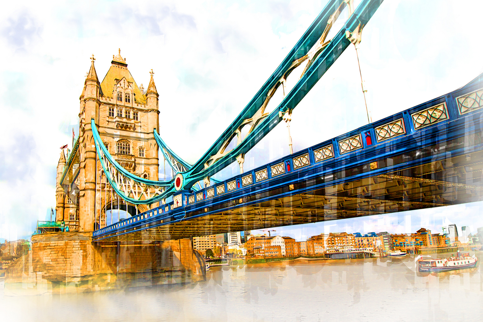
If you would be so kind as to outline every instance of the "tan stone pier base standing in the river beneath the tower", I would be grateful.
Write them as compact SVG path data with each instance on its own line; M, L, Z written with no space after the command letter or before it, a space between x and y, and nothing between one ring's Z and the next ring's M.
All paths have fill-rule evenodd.
M32 236L31 251L5 274L5 295L67 294L204 280L190 239L91 242L91 233Z

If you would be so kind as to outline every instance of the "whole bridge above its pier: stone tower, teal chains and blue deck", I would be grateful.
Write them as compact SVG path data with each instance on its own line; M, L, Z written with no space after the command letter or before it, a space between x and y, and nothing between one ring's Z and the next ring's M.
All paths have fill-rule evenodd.
M278 123L289 127L313 85L349 45L357 49L381 3L362 0L354 8L352 0L329 1L193 165L159 137L154 73L144 90L119 51L99 82L92 57L80 97L79 139L57 168L57 220L92 232L94 241L170 240L481 200L481 75L406 111L243 170L245 153ZM327 39L346 8L345 24ZM277 91L284 98L270 110ZM173 169L172 180L158 179L158 150ZM210 178L235 161L240 175ZM128 218L109 221L114 209L126 210Z

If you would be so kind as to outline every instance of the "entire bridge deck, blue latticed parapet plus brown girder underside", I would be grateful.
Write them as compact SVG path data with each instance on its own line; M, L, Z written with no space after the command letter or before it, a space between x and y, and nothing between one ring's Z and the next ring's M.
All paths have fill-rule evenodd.
M191 238L480 201L482 95L483 74L214 186L180 191L93 232L93 241Z

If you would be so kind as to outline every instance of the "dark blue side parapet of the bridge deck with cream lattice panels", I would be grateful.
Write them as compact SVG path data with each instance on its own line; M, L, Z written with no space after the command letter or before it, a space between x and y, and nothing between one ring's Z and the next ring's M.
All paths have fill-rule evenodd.
M216 189L210 187L198 193L179 191L175 194L177 204L173 201L168 205L141 213L135 218L95 231L93 238L100 240L122 236L369 177L410 182L436 182L441 186L483 191L483 185L477 177L475 180L478 185L470 185L457 181L435 181L424 177L405 178L394 175L399 170L483 151L481 137L480 140L476 139L481 134L483 126L483 110L475 109L460 114L458 112L460 107L457 105L459 102L456 100L482 87L483 74L447 95L227 179L219 184L219 186L223 185L223 189L218 190L216 186ZM433 117L426 123L425 119L423 122L425 126L414 122L413 115L426 113L434 106L442 104L447 109L448 116L444 120ZM438 115L440 115L439 112ZM380 131L377 132L377 129ZM328 148L339 147L341 142L365 133L379 133L380 139L343 154L339 149ZM470 135L474 135L475 139L466 140ZM455 144L455 142L459 143ZM393 163L386 163L384 160L387 158L391 158ZM276 173L273 169L276 169ZM272 191L276 192L270 194ZM447 204L450 203L432 201L426 206Z

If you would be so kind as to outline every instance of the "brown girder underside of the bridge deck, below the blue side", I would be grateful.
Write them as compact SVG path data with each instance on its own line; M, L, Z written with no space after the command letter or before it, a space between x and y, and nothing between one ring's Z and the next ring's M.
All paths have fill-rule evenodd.
M483 159L483 151L468 155L470 159ZM482 182L483 162L468 161L468 155L447 154L444 161L424 162L396 169L390 174L375 173L357 180L351 176L322 188L305 189L307 191L303 193L298 192L301 190L298 187L293 194L289 191L280 193L277 192L280 187L273 185L273 197L268 192L261 198L259 189L254 188L242 195L241 203L238 203L238 196L233 196L232 207L222 207L219 211L211 207L206 215L193 215L193 210L186 210L179 216L174 215L167 224L156 226L153 220L148 226L125 234L118 231L94 239L189 238L481 201L483 185L475 183ZM428 168L445 173L438 179L431 179L426 173ZM456 182L440 180L451 180L454 175L458 176ZM434 177L434 173L431 176ZM299 182L300 187L305 183ZM287 184L284 186L284 191L288 190Z

